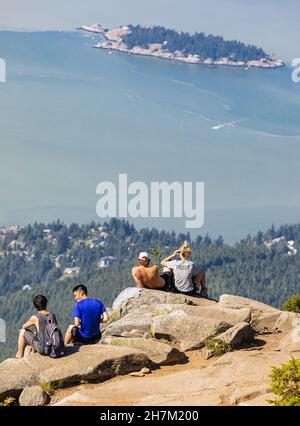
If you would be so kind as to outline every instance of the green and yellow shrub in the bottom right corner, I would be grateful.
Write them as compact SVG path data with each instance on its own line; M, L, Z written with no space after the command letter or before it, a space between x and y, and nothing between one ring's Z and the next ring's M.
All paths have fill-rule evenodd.
M300 406L300 359L292 359L280 367L272 367L271 389L278 396L277 406Z

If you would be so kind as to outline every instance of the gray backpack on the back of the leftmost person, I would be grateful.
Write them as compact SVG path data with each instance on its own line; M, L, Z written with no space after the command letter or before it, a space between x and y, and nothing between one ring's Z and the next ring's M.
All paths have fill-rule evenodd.
M46 317L43 337L43 355L50 356L51 358L59 358L64 356L64 339L56 321L55 315L52 313Z

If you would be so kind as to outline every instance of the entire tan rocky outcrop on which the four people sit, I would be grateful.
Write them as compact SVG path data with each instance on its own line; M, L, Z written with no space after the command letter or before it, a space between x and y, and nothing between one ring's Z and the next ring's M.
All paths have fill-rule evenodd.
M106 395L123 405L264 405L272 399L271 366L300 354L300 315L244 297L222 295L216 302L130 287L109 315L99 344L68 347L60 359L34 354L1 363L0 401L13 396L20 405L43 405L49 393L76 385L81 390L60 405L105 405ZM233 351L215 357L220 352L206 342L214 338ZM165 365L188 366L194 355L207 364L156 374ZM88 390L88 382L101 384Z

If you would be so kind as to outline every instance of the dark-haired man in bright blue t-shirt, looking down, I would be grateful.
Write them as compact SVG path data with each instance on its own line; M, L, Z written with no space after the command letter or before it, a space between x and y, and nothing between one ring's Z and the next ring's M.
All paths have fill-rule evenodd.
M100 300L88 297L87 288L82 284L73 288L73 294L77 302L73 310L74 324L68 327L65 345L98 343L101 339L100 323L108 321L105 306Z

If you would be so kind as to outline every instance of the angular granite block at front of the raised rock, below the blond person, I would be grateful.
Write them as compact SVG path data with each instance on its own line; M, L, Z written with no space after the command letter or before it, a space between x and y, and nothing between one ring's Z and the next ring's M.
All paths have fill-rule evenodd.
M182 310L176 310L168 315L154 317L151 334L157 339L180 343L181 350L187 351L203 347L205 339L230 327L231 324L220 319L188 315Z

